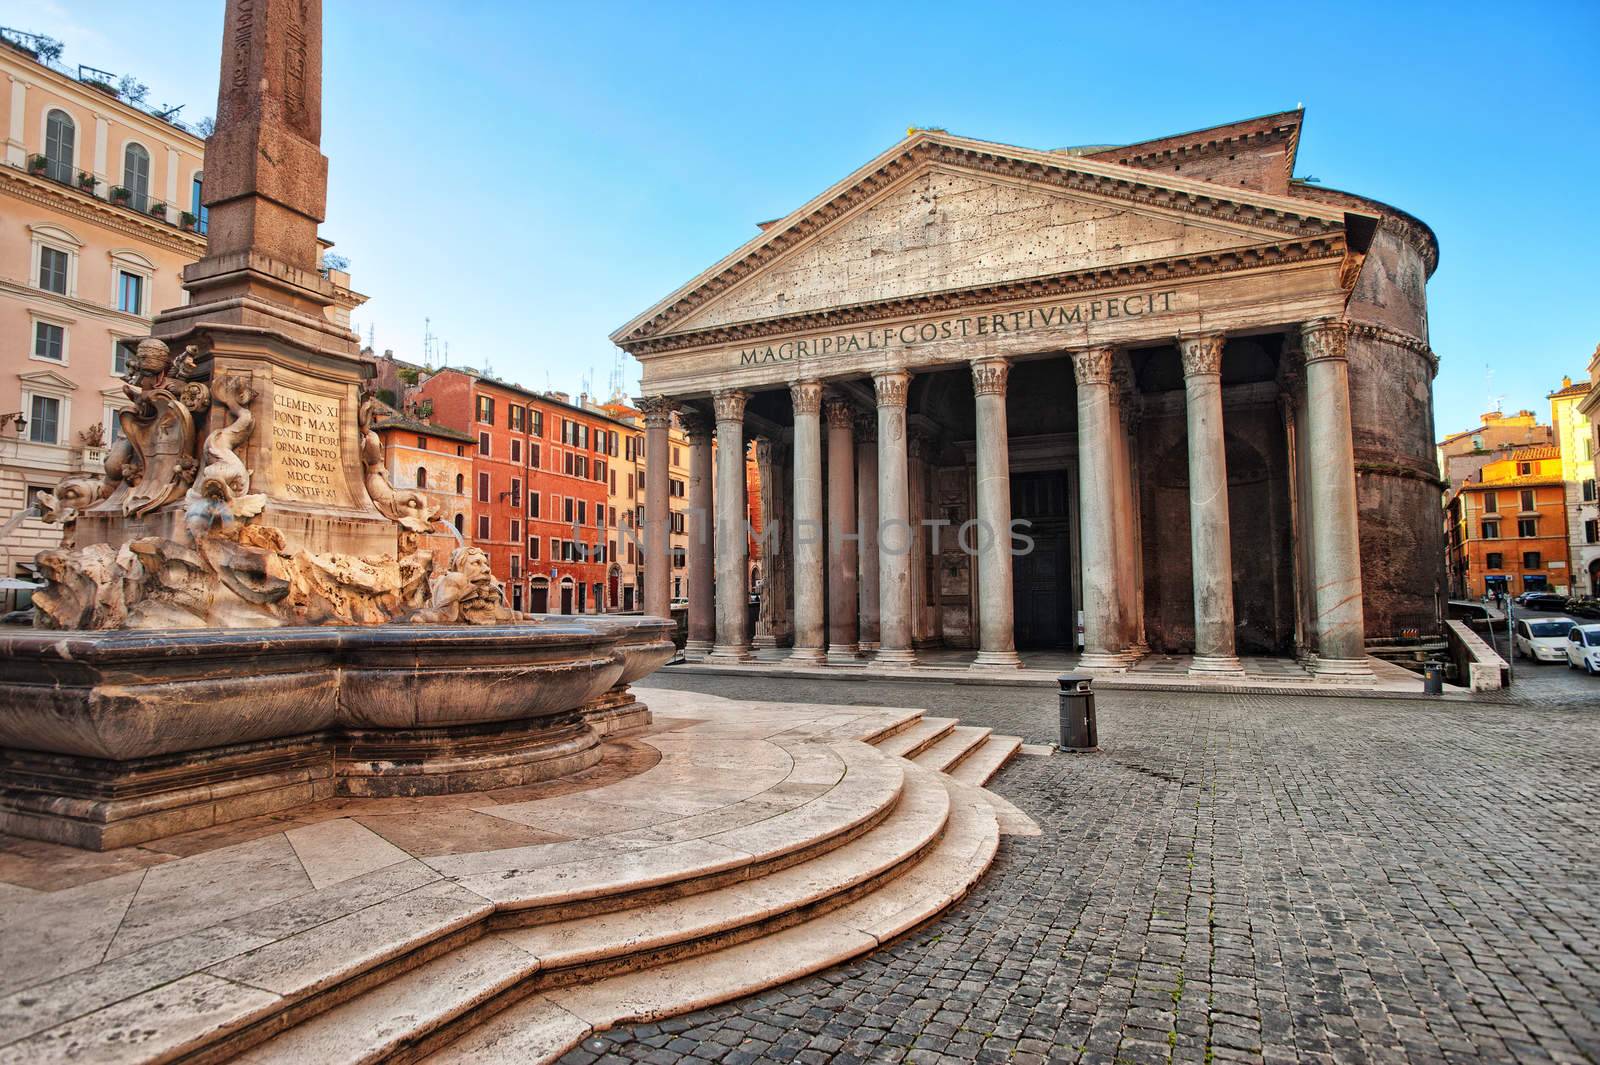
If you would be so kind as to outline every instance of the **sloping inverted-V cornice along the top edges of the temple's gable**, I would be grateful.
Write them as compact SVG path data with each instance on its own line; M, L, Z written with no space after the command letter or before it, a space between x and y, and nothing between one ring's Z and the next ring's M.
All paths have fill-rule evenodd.
M1264 238L1275 237L1298 243L1338 237L1342 243L1346 216L1342 209L1325 209L1312 201L1243 189L1224 189L1118 163L918 131L624 325L611 334L613 342L638 353L648 350L645 345L651 344L653 337L666 341L674 325L766 269L819 230L898 185L914 171L933 166L1053 187L1080 197L1123 201L1134 209L1189 214L1197 221L1256 230ZM1146 265L1149 264L1131 264L1130 269ZM674 336L670 345L680 347L682 342Z

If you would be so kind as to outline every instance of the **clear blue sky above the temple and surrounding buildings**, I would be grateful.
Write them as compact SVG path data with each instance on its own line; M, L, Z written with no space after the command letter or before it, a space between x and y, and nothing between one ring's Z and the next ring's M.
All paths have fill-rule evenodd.
M200 117L221 11L35 0L6 21ZM1438 435L1491 397L1547 417L1600 344L1594 0L328 0L325 21L323 233L373 297L363 336L405 358L430 318L454 363L605 392L611 329L907 126L1045 149L1301 102L1301 176L1440 237Z

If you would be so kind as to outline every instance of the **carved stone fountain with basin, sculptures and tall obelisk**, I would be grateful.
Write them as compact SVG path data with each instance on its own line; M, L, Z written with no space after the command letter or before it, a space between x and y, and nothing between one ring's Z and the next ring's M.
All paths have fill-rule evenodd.
M648 723L670 622L514 612L435 572L318 272L322 5L229 0L206 256L99 477L40 493L37 628L0 635L0 832L109 849L334 795L547 780Z

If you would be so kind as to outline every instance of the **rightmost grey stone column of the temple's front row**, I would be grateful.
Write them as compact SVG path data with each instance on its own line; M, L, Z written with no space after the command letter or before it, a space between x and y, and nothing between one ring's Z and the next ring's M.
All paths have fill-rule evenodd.
M1368 676L1362 600L1362 540L1350 435L1349 323L1318 318L1301 328L1306 349L1306 457L1317 574L1317 673Z

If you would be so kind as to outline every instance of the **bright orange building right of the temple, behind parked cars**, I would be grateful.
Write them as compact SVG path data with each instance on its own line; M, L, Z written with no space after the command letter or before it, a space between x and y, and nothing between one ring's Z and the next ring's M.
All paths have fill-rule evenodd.
M1571 587L1558 448L1520 448L1490 462L1459 486L1445 513L1454 598Z

